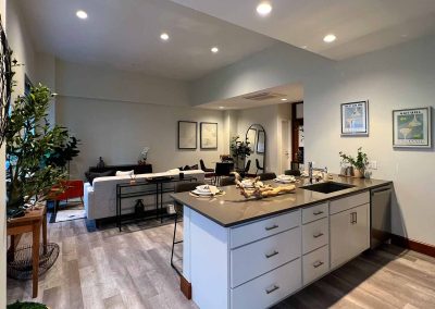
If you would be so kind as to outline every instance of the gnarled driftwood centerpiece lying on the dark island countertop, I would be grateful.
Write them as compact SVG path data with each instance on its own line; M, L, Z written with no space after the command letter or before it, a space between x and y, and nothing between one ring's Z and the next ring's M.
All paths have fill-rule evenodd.
M271 185L264 185L262 182L260 182L259 176L252 180L252 187L246 188L241 183L243 178L240 174L237 172L233 172L232 174L234 174L236 177L235 180L236 187L240 189L240 194L245 198L254 197L256 199L261 199L264 197L272 197L272 196L277 196L279 194L291 193L296 189L295 185L286 185L279 187L272 187Z

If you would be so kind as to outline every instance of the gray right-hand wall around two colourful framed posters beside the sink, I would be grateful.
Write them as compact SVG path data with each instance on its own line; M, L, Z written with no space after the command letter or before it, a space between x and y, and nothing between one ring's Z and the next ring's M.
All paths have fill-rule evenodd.
M338 151L362 146L394 181L394 233L435 245L435 153L393 149L391 111L435 108L435 36L372 52L321 70L304 85L306 159L339 171ZM340 103L370 101L370 136L340 137ZM433 118L434 119L434 118ZM435 125L433 126L433 136Z

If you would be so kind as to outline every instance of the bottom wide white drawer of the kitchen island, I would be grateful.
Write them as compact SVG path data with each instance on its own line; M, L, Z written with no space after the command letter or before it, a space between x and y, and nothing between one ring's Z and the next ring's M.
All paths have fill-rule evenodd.
M231 291L231 308L268 308L301 287L297 259Z

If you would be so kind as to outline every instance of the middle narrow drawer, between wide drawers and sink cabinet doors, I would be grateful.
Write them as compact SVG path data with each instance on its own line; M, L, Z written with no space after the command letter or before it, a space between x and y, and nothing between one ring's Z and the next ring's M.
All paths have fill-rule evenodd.
M302 225L302 254L308 254L328 243L330 222L327 218Z

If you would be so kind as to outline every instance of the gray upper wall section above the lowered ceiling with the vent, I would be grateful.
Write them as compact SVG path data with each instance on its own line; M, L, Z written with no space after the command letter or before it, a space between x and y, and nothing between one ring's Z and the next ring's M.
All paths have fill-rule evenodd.
M289 83L303 82L333 61L283 42L217 70L190 85L191 103L223 100Z

